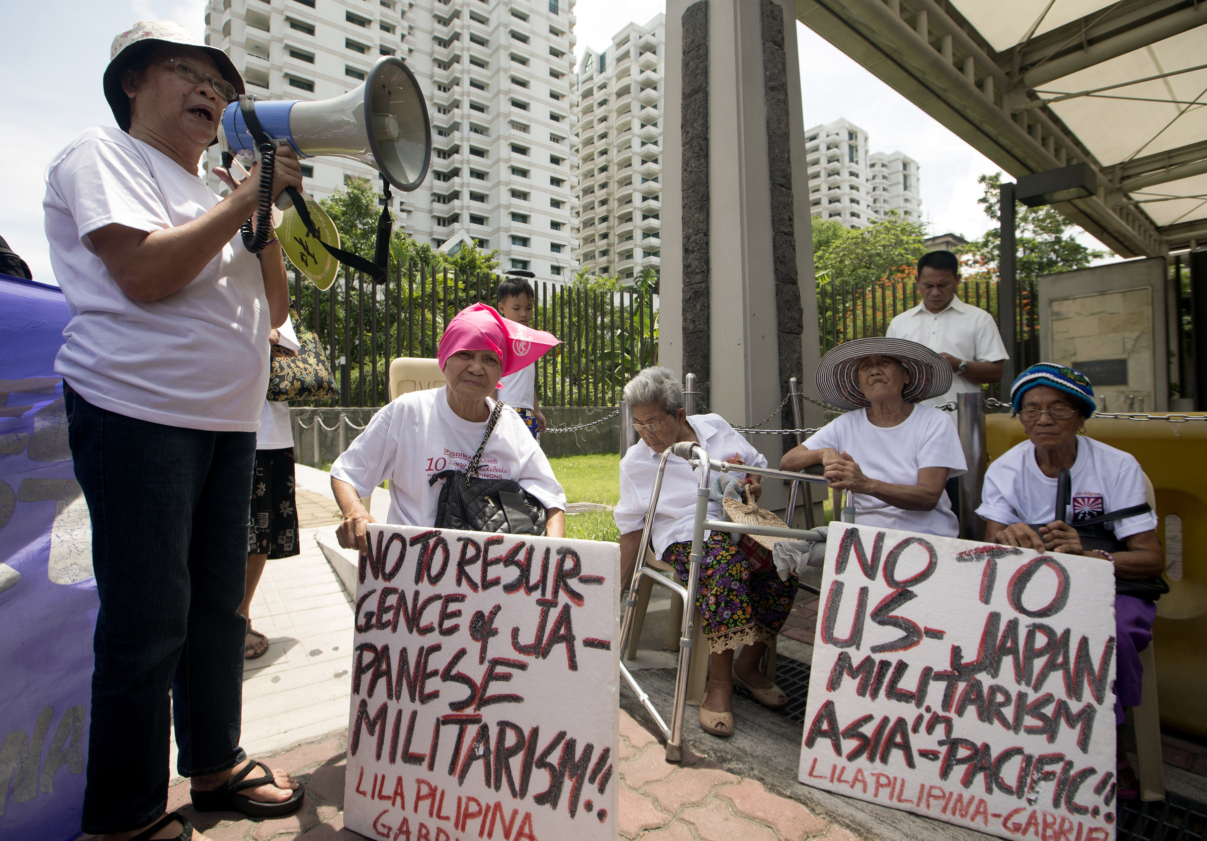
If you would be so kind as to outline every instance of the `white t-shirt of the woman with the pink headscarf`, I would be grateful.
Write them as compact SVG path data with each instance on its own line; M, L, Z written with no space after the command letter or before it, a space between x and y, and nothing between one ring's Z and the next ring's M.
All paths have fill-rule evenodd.
M390 480L389 521L431 526L441 497L441 471L463 471L482 444L486 422L472 424L453 411L448 386L413 391L383 407L352 445L331 466L331 475L346 481L362 498L383 479ZM488 401L492 407L494 401ZM514 411L503 411L486 442L479 475L512 479L546 508L566 508L549 460Z

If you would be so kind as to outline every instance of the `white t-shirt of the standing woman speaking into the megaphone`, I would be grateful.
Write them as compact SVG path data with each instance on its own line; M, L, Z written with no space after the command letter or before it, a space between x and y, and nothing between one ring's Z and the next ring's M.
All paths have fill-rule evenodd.
M116 128L83 132L51 162L46 238L71 313L54 370L89 403L192 430L260 426L273 326L260 261L239 234L152 303L123 293L88 239L107 224L181 226L218 202L196 173Z

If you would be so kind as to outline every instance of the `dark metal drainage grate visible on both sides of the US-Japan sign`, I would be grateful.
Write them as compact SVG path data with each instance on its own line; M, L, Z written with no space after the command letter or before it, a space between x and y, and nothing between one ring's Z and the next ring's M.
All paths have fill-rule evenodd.
M769 712L804 724L809 671L807 662L782 654L776 656L775 683L788 696L788 705ZM734 687L734 694L758 703L741 687ZM1172 792L1166 793L1165 800L1155 802L1120 800L1116 833L1116 841L1207 841L1207 804Z

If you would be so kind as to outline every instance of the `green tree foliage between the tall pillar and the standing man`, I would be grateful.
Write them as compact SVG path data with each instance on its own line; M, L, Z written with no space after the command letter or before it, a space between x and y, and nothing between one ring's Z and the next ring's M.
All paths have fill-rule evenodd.
M836 221L836 220L835 220ZM820 282L874 284L891 271L916 263L926 253L925 230L920 222L906 222L896 211L887 220L867 228L844 228L841 233L822 222L822 249L814 251L814 269ZM815 243L818 234L815 233Z

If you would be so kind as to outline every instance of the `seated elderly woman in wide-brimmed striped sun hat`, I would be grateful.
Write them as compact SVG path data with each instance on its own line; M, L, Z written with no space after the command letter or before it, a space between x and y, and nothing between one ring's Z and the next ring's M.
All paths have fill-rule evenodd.
M844 341L817 367L817 390L849 411L785 454L780 468L822 465L829 486L851 491L856 521L880 528L956 537L944 492L966 472L956 426L919 405L951 387L951 364L905 339Z

